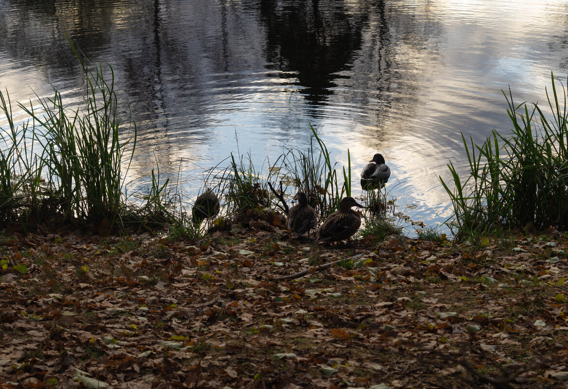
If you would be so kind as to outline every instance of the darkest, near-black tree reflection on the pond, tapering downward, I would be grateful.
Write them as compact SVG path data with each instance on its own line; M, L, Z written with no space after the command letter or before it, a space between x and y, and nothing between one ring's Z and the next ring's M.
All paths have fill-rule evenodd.
M262 0L260 11L271 66L297 72L307 99L324 100L360 49L361 22L333 1Z

